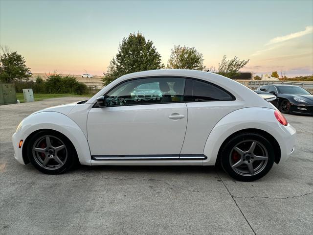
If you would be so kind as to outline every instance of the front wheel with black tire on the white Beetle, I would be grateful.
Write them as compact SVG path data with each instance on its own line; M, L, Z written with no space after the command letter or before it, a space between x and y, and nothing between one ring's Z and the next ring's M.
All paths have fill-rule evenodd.
M51 147L47 144L46 138L49 138ZM39 146L40 144L41 146ZM65 147L57 150L58 147L62 146ZM73 144L66 136L56 131L44 130L37 132L35 135L31 136L29 141L27 141L26 147L26 153L31 164L45 174L64 173L72 168L76 162L76 151ZM34 150L34 147L41 151ZM49 155L50 151L51 155ZM48 158L48 160L45 163L46 158Z

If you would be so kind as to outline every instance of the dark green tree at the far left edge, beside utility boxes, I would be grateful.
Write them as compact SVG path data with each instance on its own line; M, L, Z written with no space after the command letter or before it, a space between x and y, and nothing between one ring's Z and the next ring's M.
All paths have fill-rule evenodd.
M26 67L25 59L18 52L10 52L8 48L0 47L0 81L10 83L13 81L28 80L30 68Z

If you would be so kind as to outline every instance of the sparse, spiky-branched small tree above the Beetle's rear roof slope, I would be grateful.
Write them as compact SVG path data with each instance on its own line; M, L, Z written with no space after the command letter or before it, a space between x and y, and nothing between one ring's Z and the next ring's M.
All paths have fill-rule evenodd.
M244 68L249 61L249 59L240 60L237 56L235 56L233 59L226 60L226 55L224 55L221 63L219 63L219 70L215 71L215 69L211 67L211 69L208 71L213 71L225 77L232 78L236 75L239 75L240 69Z

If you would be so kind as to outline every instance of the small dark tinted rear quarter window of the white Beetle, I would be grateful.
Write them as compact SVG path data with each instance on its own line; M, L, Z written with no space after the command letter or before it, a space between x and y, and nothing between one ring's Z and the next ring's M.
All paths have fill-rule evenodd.
M233 100L231 94L213 84L187 79L185 101L218 101Z

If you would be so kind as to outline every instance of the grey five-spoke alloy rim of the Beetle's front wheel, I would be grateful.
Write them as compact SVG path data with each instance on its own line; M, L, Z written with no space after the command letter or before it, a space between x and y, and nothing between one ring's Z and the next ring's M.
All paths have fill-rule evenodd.
M33 156L37 164L45 169L58 169L67 161L67 147L52 135L38 138L33 144Z

